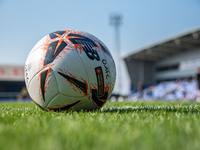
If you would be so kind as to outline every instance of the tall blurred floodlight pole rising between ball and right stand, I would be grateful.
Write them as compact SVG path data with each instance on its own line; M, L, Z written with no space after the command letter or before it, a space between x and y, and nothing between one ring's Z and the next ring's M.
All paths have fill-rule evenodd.
M122 24L122 15L121 14L111 14L110 15L110 24L115 27L115 45L116 51L118 53L118 94L120 95L120 89L122 89L122 73L121 73L121 48L120 48L120 25Z

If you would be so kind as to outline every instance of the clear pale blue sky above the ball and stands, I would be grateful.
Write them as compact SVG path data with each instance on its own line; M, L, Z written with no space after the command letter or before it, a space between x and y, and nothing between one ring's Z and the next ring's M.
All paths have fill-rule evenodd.
M123 15L123 55L200 27L199 0L0 0L0 65L24 65L32 47L60 29L89 32L116 57L112 13Z

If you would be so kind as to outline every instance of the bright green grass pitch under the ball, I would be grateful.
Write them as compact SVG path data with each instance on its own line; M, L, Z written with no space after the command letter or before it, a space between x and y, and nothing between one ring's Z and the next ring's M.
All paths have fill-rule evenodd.
M199 150L200 103L107 102L95 112L0 103L1 150Z

